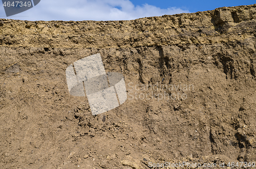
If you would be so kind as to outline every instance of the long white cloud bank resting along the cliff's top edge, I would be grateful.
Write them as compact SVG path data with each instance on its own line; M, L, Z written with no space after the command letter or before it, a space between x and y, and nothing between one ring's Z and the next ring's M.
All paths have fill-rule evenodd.
M3 8L3 6L1 7ZM141 17L189 13L179 8L160 9L144 4L134 6L129 0L42 0L32 9L1 18L21 20L131 20Z

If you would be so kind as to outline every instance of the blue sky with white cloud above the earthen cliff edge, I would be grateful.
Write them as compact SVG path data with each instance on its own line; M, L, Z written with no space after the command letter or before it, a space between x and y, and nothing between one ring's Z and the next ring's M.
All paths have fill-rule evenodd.
M219 7L251 5L254 1L144 1L144 0L41 0L35 7L0 18L19 20L131 20L148 16L214 10Z

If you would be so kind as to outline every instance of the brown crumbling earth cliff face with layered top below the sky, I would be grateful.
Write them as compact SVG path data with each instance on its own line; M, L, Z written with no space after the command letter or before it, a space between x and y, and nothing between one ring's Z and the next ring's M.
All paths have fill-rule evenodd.
M0 19L0 168L252 167L255 48L256 4L129 21ZM122 73L127 99L92 116L66 69L97 53Z

